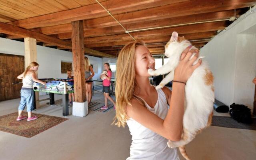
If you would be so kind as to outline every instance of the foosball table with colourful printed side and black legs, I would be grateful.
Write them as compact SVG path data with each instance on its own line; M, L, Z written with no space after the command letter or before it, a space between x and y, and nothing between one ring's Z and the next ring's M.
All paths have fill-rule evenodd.
M33 88L35 92L48 92L49 98L43 100L50 100L50 104L54 105L54 93L62 94L62 115L68 116L68 94L74 93L74 80L62 79L62 78L46 78L40 79L46 82L46 85L34 82ZM86 81L93 82L93 81ZM85 89L85 88L84 88ZM43 101L38 100L37 102ZM36 109L36 108L34 108Z

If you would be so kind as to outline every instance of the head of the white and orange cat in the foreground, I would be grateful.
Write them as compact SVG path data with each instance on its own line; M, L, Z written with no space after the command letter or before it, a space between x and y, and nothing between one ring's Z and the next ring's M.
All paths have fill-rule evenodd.
M180 47L181 44L189 44L190 42L184 38L184 36L179 37L177 32L172 32L172 37L165 46L164 55L167 57L173 56L176 54L176 50ZM180 53L181 54L181 53Z

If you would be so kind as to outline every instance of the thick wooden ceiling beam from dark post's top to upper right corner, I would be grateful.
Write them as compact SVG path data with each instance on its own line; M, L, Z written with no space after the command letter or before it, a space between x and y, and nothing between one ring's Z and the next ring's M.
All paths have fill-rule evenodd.
M147 10L118 14L115 16L115 18L122 25L124 25L137 22L146 22L150 20L160 20L164 18L188 16L195 13L201 14L222 10L233 10L235 8L253 6L254 4L255 0L192 0L156 8L150 8ZM102 28L118 25L116 21L110 16L86 20L84 23L86 28Z

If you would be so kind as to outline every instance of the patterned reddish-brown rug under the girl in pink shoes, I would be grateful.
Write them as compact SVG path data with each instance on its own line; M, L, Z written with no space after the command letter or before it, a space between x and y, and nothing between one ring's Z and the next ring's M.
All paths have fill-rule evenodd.
M22 115L27 116L27 112L23 112ZM44 132L61 122L68 120L68 118L61 118L55 116L47 116L44 114L32 114L38 116L37 120L27 121L26 119L16 121L18 112L0 116L0 130L19 136L31 138L32 136Z

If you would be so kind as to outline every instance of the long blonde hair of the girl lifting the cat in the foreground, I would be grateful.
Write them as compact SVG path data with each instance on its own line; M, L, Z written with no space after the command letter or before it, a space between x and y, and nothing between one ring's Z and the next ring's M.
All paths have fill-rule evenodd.
M135 49L145 46L143 41L126 44L119 52L116 62L116 116L112 124L125 126L127 121L126 105L131 104L135 84ZM117 122L116 122L117 121Z

